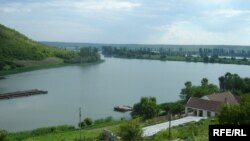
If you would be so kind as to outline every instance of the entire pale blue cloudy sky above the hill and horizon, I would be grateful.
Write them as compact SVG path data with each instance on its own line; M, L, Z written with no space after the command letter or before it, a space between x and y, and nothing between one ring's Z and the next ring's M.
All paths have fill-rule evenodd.
M0 23L37 41L250 45L249 0L0 0Z

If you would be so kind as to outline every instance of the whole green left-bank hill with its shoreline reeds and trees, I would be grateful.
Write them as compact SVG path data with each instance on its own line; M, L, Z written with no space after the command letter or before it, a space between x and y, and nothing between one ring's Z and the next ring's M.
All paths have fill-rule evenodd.
M100 62L95 48L78 51L48 46L0 25L0 76L75 63Z

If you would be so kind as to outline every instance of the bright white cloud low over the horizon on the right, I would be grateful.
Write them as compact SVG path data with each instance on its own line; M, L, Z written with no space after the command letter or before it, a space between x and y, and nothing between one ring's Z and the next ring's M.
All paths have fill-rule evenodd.
M175 22L171 25L156 27L156 34L147 43L157 44L250 44L248 30L236 32L209 32L191 22Z

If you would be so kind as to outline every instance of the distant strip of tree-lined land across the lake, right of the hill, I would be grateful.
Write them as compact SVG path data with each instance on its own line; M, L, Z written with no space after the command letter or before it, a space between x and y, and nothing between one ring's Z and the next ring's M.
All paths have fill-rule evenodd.
M102 53L105 56L118 58L250 65L250 61L247 59L247 57L250 56L250 51L239 51L232 49L227 51L227 49L224 48L200 48L199 50L184 50L183 48L128 48L103 46ZM237 56L242 57L242 59L236 59Z

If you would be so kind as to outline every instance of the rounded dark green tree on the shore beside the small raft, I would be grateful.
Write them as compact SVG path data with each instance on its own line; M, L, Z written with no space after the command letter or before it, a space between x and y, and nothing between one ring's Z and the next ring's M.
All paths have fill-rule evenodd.
M132 117L150 119L159 115L159 107L155 97L142 97L139 103L134 104Z

